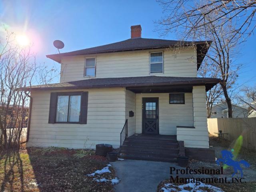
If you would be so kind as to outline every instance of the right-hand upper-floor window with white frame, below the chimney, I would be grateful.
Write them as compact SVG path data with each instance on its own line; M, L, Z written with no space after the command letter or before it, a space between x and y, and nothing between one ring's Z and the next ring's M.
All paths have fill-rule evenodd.
M163 66L163 52L150 53L150 73L162 73Z

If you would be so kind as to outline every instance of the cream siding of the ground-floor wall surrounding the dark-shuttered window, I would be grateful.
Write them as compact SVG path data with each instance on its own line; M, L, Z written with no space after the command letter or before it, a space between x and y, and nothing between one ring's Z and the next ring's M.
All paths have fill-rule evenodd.
M83 148L86 143L86 148L91 145L95 148L96 144L108 143L115 148L119 147L120 132L126 116L124 88L68 91L88 91L87 124L48 124L50 91L32 91L30 138L27 146Z

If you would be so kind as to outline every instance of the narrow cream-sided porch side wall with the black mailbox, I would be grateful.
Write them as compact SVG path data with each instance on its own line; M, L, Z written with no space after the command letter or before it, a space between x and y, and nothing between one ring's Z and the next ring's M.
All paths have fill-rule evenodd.
M129 111L134 112L133 117L129 117ZM125 92L125 118L128 119L128 136L131 136L135 134L136 94L130 90Z

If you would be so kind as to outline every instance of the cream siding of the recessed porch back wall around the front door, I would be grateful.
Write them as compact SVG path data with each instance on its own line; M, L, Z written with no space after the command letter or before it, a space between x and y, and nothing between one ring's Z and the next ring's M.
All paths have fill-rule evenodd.
M169 104L168 93L136 94L136 133L142 133L142 98L159 98L159 134L176 135L176 126L193 126L192 93L185 104Z

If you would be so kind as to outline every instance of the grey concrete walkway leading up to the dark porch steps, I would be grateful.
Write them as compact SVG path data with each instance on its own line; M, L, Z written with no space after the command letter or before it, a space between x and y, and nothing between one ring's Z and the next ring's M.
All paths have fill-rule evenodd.
M121 179L114 186L116 192L156 192L158 184L170 178L170 167L175 163L124 160L111 162L116 176Z

